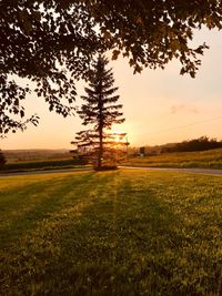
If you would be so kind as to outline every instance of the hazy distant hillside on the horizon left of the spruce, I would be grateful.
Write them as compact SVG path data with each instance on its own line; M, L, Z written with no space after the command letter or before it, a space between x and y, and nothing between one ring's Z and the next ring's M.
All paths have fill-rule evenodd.
M4 150L8 163L72 159L69 150Z

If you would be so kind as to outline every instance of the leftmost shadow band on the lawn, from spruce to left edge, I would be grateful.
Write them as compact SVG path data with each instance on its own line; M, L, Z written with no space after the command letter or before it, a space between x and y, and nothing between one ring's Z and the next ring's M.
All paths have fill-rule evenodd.
M1 204L0 246L8 247L23 233L31 232L43 220L53 216L67 205L65 196L73 191L72 198L80 198L79 190L89 183L92 174L81 177L69 176L39 182L20 188L19 192L9 191L10 202ZM4 198L6 200L6 198Z

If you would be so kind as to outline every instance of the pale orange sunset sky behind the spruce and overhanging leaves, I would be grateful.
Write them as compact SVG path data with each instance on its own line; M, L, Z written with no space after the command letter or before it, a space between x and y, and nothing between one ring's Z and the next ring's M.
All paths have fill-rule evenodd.
M176 61L165 70L145 69L137 75L127 60L111 62L125 118L125 123L113 130L127 132L132 146L202 135L222 140L222 32L203 30L196 32L194 41L210 45L195 79L181 76ZM83 86L78 84L80 94L84 93ZM40 115L39 126L9 134L1 140L0 149L71 149L70 141L82 130L78 115L63 119L50 113L47 103L34 95L26 105L27 114Z

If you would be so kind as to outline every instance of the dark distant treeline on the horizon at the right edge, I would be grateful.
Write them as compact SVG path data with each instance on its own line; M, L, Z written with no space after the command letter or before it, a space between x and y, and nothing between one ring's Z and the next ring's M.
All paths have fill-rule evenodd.
M161 153L167 152L192 152L204 151L222 147L222 141L218 142L215 139L209 139L208 136L201 136L199 139L183 141L172 146L163 146Z

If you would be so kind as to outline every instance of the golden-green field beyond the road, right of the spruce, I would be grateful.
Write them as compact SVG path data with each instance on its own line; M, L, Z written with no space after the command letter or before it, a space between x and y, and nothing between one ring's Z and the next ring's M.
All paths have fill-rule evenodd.
M124 165L150 167L202 167L222 170L222 149L129 157Z

